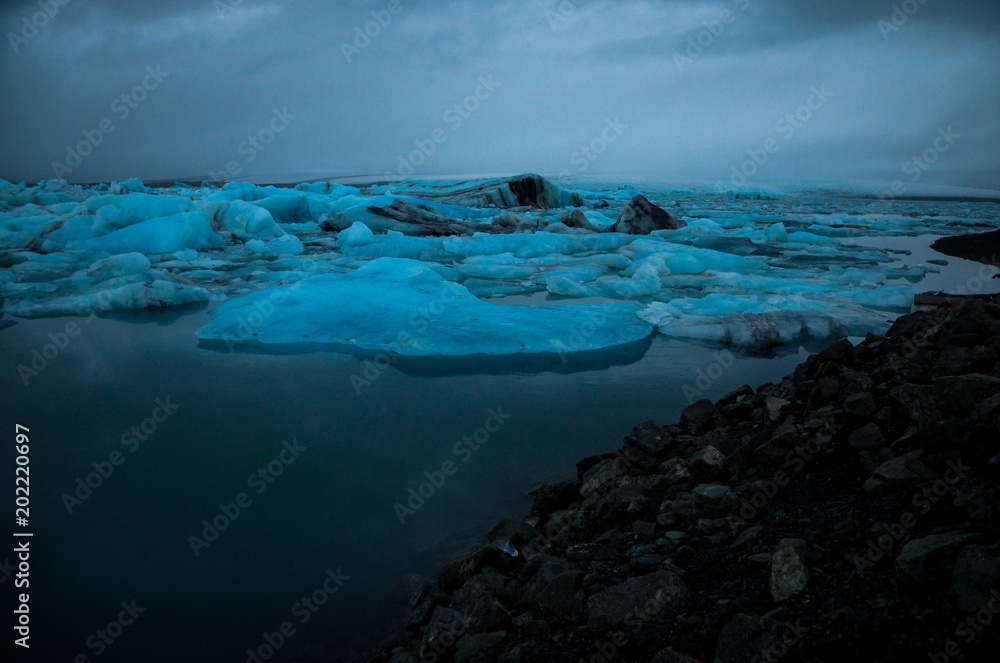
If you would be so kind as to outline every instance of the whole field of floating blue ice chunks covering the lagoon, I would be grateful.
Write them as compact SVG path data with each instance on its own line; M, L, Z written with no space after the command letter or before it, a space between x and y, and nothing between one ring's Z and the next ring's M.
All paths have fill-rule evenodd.
M993 203L588 189L530 175L0 180L0 325L225 302L200 338L462 356L594 350L655 330L767 349L881 333L910 310L941 264L873 239L997 224Z

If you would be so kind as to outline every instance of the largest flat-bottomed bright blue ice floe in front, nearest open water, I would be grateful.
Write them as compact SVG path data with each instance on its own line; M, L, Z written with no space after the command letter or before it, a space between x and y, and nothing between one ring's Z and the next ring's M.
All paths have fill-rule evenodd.
M568 353L646 338L638 307L501 306L395 258L231 300L202 339L349 345L407 356Z

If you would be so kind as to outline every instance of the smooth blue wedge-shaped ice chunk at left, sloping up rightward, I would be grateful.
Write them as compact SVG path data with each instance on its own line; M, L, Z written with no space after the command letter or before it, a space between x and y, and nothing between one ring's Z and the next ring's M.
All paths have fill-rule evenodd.
M222 246L202 212L175 214L143 221L103 237L77 240L69 249L106 251L108 253L173 253L182 249L204 251Z

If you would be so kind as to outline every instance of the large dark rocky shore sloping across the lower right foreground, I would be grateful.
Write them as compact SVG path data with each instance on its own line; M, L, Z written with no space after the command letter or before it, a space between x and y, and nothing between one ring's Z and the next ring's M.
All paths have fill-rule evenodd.
M1000 298L960 299L640 424L363 660L996 660L998 360Z

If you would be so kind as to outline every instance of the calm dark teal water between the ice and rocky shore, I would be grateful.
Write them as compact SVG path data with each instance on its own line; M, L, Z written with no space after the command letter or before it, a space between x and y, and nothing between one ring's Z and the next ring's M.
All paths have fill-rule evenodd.
M242 662L285 621L296 632L271 660L373 644L364 635L384 634L404 611L407 573L431 574L499 518L523 515L525 491L617 448L639 421L675 420L684 386L718 352L654 335L566 365L399 361L358 395L361 358L219 352L195 338L206 321L187 308L0 331L6 467L14 424L31 430L37 660ZM25 386L18 365L68 322L81 333ZM737 358L705 396L776 380L805 354ZM177 409L150 432L144 420L163 418L157 399ZM456 454L491 409L509 420ZM129 432L141 425L145 441ZM248 484L293 438L305 450L272 464L280 476ZM64 494L113 452L121 464L67 513ZM393 505L449 460L457 472L401 524ZM240 493L250 505L196 557L189 537ZM338 569L349 579L301 623L293 606ZM133 600L144 612L120 633L112 626L117 637L96 656L94 634Z

